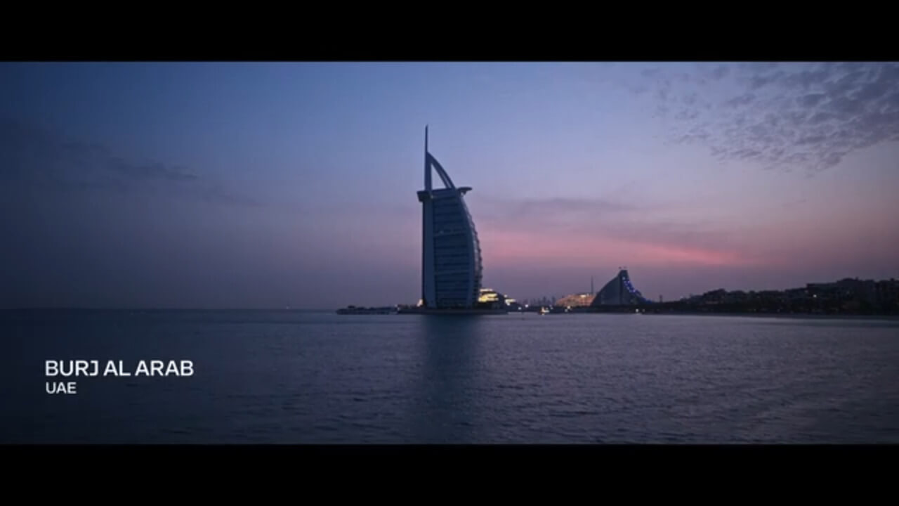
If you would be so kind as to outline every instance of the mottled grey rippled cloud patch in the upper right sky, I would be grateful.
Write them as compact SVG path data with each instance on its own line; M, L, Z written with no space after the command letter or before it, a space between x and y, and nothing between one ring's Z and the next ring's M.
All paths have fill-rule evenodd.
M896 63L702 65L686 79L666 67L640 79L655 90L670 140L705 145L722 161L814 173L899 140Z

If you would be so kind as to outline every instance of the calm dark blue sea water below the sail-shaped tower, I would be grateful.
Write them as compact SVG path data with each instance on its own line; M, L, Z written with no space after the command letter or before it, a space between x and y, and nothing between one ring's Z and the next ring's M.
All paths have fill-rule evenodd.
M3 443L896 443L899 322L0 312ZM78 377L44 361L193 362Z

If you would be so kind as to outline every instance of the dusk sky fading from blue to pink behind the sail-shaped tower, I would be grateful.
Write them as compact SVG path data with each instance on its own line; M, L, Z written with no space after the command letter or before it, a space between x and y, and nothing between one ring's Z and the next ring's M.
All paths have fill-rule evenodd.
M0 93L0 307L415 303L425 124L517 299L899 277L895 63L4 63Z

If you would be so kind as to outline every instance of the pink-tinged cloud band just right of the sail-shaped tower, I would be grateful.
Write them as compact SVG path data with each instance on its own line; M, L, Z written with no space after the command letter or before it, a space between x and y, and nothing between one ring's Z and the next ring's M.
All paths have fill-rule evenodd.
M487 261L746 265L755 261L734 230L710 221L672 221L614 200L529 199L480 203ZM609 258L607 258L609 257Z

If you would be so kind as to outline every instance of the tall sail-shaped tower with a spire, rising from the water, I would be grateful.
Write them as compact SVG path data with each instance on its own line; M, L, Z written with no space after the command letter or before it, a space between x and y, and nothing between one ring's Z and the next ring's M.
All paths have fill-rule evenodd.
M443 188L432 187L432 170ZM453 185L440 162L428 151L424 127L422 203L422 302L431 309L471 309L478 302L483 269L475 222L463 195L468 186Z

